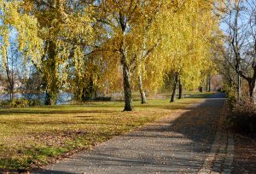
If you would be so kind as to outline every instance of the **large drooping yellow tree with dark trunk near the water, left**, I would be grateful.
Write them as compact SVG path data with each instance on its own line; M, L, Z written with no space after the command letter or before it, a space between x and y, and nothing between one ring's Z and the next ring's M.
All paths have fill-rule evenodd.
M83 52L83 45L93 40L90 9L83 1L67 0L10 1L3 6L4 17L8 18L4 24L17 28L20 51L43 74L45 104L54 104L58 90L66 82L70 59L82 59L79 53ZM39 53L32 56L35 49Z

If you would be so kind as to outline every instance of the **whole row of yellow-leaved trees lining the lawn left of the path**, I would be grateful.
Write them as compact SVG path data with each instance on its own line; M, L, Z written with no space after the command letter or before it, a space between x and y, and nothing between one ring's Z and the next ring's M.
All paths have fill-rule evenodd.
M131 90L139 90L145 103L145 90L160 89L167 74L175 77L174 101L177 84L180 90L195 89L214 72L220 5L214 0L0 0L2 65L9 69L14 28L19 66L36 68L45 104L54 104L62 89L82 100L95 91L123 88L125 111L131 111Z

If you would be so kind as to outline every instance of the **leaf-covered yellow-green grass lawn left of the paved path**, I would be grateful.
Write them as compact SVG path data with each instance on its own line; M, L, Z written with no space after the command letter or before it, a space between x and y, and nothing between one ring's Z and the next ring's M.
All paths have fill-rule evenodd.
M134 102L135 111L127 113L122 112L123 102L0 109L0 170L46 165L199 100L195 94L176 103L169 99L148 100L147 105Z

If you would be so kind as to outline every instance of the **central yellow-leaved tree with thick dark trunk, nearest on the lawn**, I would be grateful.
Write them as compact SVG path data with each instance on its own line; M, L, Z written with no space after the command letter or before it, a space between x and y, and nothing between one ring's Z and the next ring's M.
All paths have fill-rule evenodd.
M146 23L150 19L153 19L154 10L159 8L160 3L160 0L103 0L96 3L99 9L97 19L102 22L103 28L108 31L108 40L102 45L102 49L105 51L108 50L106 54L119 55L120 65L122 66L125 111L131 111L133 109L131 98L131 66L136 62L139 62L138 64L142 62L137 61L137 55L140 54L134 52L134 48L140 47L142 42L144 44L147 43L143 39L142 34L147 25ZM138 74L140 74L140 71Z

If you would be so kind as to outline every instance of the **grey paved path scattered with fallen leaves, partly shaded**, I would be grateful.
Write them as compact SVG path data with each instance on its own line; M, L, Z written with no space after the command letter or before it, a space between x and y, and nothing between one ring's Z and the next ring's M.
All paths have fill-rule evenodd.
M192 104L176 119L167 117L114 137L34 173L207 173L218 151L212 143L221 142L217 139L222 136L215 135L223 97L216 95Z

